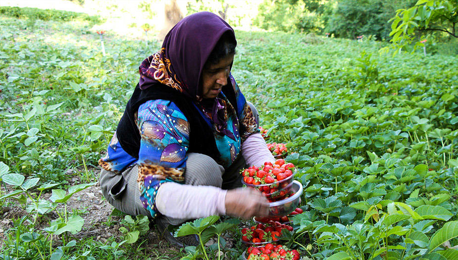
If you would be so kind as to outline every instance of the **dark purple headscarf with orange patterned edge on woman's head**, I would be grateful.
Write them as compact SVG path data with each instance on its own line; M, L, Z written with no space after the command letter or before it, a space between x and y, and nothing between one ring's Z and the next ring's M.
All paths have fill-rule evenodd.
M160 82L201 101L204 64L226 32L236 42L232 27L216 14L198 12L185 17L165 36L161 50L142 62L140 89Z

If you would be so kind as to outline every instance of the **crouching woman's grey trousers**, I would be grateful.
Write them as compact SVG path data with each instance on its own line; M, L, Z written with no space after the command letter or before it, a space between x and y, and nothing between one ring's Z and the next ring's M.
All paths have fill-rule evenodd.
M250 104L257 122L258 112L253 104ZM235 189L242 186L242 174L240 170L245 168L246 162L242 155L228 167L216 163L210 156L197 153L189 153L186 161L185 184L215 186L225 190ZM102 168L100 174L100 187L106 201L114 208L129 215L146 215L152 218L150 212L143 208L140 201L140 189L137 183L138 166L129 167L122 173L107 171ZM160 216L172 225L179 225L188 219L177 219Z

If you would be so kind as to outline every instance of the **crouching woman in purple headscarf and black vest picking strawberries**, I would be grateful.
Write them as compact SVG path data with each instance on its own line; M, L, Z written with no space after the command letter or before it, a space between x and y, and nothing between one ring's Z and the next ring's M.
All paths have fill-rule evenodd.
M236 45L224 20L200 12L181 20L142 62L140 82L99 161L102 193L113 207L155 218L160 230L214 214L267 214L260 192L238 188L241 168L274 158L257 111L230 73Z

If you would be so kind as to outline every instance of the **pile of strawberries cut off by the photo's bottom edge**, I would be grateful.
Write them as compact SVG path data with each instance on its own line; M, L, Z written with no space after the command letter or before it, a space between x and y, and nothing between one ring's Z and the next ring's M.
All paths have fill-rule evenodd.
M299 260L301 256L297 250L290 250L282 245L266 244L263 247L249 247L249 260Z

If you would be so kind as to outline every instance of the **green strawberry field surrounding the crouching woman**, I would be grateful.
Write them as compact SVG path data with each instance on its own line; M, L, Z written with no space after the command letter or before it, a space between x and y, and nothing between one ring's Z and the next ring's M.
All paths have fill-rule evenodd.
M0 16L0 258L185 257L98 184L138 66L161 43L106 32L103 56L90 28ZM309 259L457 259L458 57L236 36L234 78L304 186L285 244ZM226 259L242 259L244 225L223 234Z

